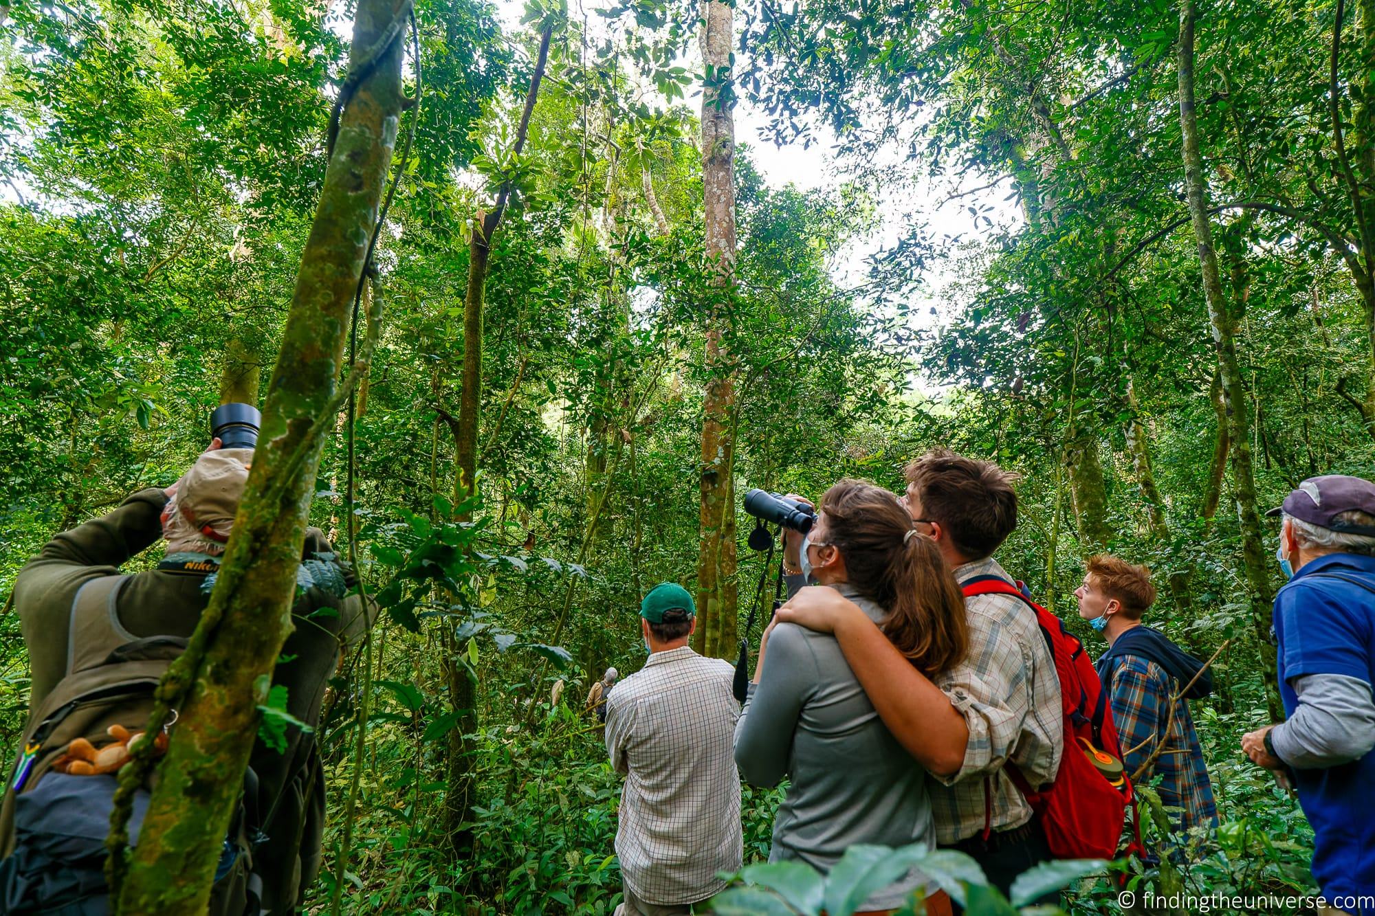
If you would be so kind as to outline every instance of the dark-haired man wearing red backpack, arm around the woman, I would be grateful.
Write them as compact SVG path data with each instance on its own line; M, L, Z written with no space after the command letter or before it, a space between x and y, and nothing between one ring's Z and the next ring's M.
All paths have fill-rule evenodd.
M961 586L982 576L1015 585L993 552L1018 524L1013 477L987 461L936 450L906 468L902 505ZM789 541L784 560L800 556ZM1035 613L1008 594L965 598L969 653L935 679L918 671L868 613L835 589L803 589L778 620L835 633L884 725L935 781L936 842L972 855L1006 894L1050 858L1031 806L1008 776L1055 780L1064 750L1060 682Z

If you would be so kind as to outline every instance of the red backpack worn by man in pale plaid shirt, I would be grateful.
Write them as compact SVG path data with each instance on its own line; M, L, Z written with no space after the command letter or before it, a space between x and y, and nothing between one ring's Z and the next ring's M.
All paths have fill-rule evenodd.
M1009 594L1035 611L1041 634L1055 657L1055 674L1060 681L1064 752L1060 755L1060 770L1046 785L1028 784L1022 770L1011 761L1004 766L1004 772L1026 796L1031 810L1040 816L1041 828L1056 858L1114 858L1129 806L1133 813L1133 827L1136 824L1136 805L1132 800L1132 780L1126 772L1115 774L1122 767L1122 748L1112 726L1107 690L1103 689L1084 644L1064 629L1060 618L1028 598L1006 579L976 576L962 583L961 589L965 597ZM1140 839L1128 851L1136 851L1138 847Z

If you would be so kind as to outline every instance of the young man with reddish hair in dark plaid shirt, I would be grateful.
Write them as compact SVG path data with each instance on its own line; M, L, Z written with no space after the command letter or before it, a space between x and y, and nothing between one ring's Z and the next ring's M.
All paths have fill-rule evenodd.
M1160 777L1160 802L1176 829L1217 827L1213 784L1188 704L1213 692L1213 678L1199 659L1141 623L1155 604L1151 571L1107 554L1089 557L1074 597L1079 616L1108 641L1099 679L1112 704L1128 776L1150 761L1137 781L1148 785Z

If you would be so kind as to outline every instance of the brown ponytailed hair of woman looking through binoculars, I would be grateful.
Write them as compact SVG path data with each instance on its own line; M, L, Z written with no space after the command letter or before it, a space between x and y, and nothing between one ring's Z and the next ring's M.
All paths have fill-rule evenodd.
M964 593L935 541L914 531L896 498L846 479L821 497L821 510L850 585L888 611L888 641L928 677L962 662L969 651Z

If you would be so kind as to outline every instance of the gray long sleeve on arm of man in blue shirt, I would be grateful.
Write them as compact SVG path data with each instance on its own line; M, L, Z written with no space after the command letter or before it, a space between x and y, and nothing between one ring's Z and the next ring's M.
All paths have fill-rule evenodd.
M1343 674L1309 674L1294 681L1294 715L1270 732L1282 761L1313 770L1350 763L1375 748L1370 684Z

